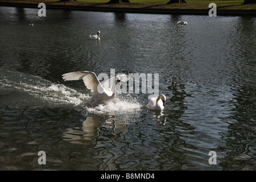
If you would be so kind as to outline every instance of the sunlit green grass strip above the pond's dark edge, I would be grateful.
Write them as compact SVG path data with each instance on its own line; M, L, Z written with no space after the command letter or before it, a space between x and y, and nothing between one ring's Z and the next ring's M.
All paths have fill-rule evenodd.
M66 2L66 5L72 6L94 6L94 7L123 7L123 8L148 8L148 9L209 9L209 3L216 3L219 10L256 10L256 3L251 5L243 5L243 0L214 1L214 0L186 0L188 3L175 3L167 5L169 0L130 0L131 3L122 4L106 4L109 0L77 0L76 2ZM64 5L64 2L57 0L0 0L0 2L17 2L17 3L49 3L53 5Z

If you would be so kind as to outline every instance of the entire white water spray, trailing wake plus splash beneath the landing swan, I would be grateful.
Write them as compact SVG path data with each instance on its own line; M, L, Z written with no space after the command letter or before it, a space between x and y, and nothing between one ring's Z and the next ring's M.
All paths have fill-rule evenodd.
M89 94L80 93L63 84L54 84L41 77L0 69L0 91L9 97L1 97L1 104L16 106L63 106L72 105L93 114L126 114L141 109L136 97L117 94L113 102L91 107L84 105Z

